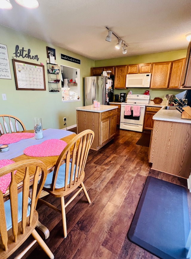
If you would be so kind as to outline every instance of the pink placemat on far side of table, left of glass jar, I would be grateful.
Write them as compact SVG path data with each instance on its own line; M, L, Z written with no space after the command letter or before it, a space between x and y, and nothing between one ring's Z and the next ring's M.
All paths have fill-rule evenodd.
M25 138L32 138L34 137L34 133L27 133L27 132L22 132L22 133L7 133L3 134L0 137L0 143L1 144L12 144L15 142L18 142L21 139Z

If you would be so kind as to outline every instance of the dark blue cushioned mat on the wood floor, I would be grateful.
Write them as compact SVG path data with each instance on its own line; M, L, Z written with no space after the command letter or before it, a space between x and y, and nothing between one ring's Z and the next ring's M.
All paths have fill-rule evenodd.
M189 232L186 188L148 176L128 239L161 259L185 259Z

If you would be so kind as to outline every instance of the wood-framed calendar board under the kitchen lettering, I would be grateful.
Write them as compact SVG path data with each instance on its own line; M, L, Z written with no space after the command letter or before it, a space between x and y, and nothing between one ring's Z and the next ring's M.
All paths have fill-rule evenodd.
M45 91L44 65L13 59L16 90Z

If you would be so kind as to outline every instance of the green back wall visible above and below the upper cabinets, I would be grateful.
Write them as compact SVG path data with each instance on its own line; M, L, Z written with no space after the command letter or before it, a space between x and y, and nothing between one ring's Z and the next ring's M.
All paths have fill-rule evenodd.
M145 54L145 55L138 55L138 56L131 56L131 57L96 60L95 67L172 61L172 60L184 58L186 57L186 54L187 54L187 49L179 50L179 51ZM185 91L185 90L170 90L170 89L158 90L158 89L148 89L148 88L129 88L129 89L115 89L114 94L119 94L120 92L128 93L130 90L133 91L133 94L143 94L145 90L149 90L150 99L154 99L155 97L160 97L160 98L163 98L163 100L164 100L164 95L166 94L176 95L179 92Z

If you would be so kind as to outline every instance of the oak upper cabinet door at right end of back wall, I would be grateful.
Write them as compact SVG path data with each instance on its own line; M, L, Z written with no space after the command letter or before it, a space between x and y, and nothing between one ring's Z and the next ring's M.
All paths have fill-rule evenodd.
M169 88L180 88L185 60L186 58L181 58L172 62Z

